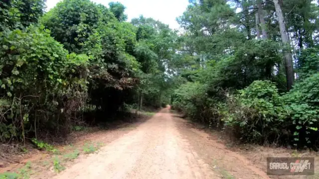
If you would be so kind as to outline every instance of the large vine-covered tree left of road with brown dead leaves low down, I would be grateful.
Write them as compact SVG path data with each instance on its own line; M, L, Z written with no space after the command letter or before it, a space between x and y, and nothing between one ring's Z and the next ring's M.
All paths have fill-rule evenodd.
M66 49L89 56L88 102L114 113L124 102L133 100L127 94L138 84L140 64L134 56L135 27L114 16L121 11L120 3L111 6L107 9L90 0L64 0L41 21Z

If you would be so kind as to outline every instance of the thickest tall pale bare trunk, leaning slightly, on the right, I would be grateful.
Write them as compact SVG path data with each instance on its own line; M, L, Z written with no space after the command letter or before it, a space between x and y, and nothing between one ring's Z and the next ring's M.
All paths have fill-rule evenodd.
M276 8L276 13L278 17L280 34L281 34L281 39L283 41L283 45L287 45L287 46L289 45L288 47L290 47L288 35L286 31L286 26L284 22L284 16L283 16L281 7L279 5L279 1L274 0L274 3L275 3L275 8ZM285 49L284 58L285 58L286 78L287 78L287 89L290 90L294 84L294 67L293 67L292 54L289 49Z

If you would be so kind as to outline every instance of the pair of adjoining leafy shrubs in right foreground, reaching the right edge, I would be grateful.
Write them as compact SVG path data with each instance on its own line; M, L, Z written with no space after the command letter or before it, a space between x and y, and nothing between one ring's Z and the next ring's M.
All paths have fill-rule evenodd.
M238 92L224 121L243 141L298 147L318 142L319 74L298 81L282 96L269 81L255 81Z

